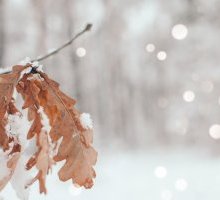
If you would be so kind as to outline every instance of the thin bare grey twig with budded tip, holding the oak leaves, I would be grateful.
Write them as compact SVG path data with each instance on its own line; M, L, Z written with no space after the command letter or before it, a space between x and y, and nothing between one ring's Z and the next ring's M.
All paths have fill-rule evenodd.
M49 57L59 53L64 48L66 48L67 46L71 45L78 37L83 35L85 32L90 31L91 28L92 28L92 24L87 24L86 27L82 31L80 31L75 36L73 36L69 41L67 41L66 43L64 43L63 45L58 47L57 49L51 51L50 53L45 54L44 56L41 56L39 58L31 60L31 62L34 62L34 61L38 61L39 62L39 61L45 60L45 59L47 59L47 58L49 58ZM10 72L11 72L11 68L5 68L5 69L1 69L0 70L0 74L8 74Z

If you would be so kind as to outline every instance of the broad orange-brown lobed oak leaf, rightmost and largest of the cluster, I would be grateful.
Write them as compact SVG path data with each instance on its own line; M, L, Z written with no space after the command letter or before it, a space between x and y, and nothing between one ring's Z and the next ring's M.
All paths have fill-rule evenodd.
M97 152L91 146L92 130L80 125L80 113L73 107L75 100L61 92L59 84L45 73L39 74L43 79L39 100L50 119L52 142L62 140L54 160L66 160L59 178L62 181L72 179L75 184L91 188L96 176L93 165L97 159Z

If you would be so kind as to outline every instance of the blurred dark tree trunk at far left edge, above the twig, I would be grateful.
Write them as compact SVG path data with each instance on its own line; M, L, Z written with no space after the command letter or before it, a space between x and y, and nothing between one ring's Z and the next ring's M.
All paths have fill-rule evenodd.
M4 2L0 0L0 66L3 65L4 47L5 47L5 20L4 20Z

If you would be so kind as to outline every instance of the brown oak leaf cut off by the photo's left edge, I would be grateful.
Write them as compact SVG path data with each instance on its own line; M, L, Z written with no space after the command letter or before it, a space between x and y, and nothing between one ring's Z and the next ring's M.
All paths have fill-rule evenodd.
M12 73L0 75L0 147L7 162L8 173L0 180L2 190L11 179L20 158L21 145L10 133L6 133L8 115L19 111L14 105L13 92L24 66L14 66Z

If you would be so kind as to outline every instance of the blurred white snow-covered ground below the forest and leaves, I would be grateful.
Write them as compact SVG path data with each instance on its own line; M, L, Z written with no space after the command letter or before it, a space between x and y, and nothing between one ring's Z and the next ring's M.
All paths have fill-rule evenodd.
M56 169L57 170L57 169ZM54 170L54 174L56 172ZM219 200L220 157L193 150L99 153L91 190L77 189L57 176L47 179L48 194L31 189L30 200ZM16 200L11 186L1 194Z

